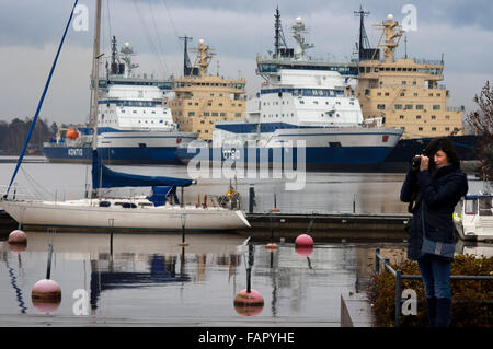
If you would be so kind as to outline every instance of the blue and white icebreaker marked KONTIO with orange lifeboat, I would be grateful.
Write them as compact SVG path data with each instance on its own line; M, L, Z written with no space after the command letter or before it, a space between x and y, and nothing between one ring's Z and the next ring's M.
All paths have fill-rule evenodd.
M99 81L98 148L105 163L179 163L176 148L197 135L179 130L168 105L171 80L133 73L138 65L128 43L119 54L112 42L106 77ZM93 129L78 126L45 143L50 161L90 162Z

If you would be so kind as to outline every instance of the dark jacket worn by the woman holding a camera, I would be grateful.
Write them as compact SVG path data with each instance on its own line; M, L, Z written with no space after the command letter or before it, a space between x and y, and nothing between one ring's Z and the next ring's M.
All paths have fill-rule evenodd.
M448 165L433 175L429 171L409 171L401 188L401 201L410 202L421 197L422 202L413 210L413 219L408 226L408 258L423 256L423 214L426 237L443 243L454 243L454 209L460 198L468 193L468 179L459 167ZM422 205L424 203L423 210Z

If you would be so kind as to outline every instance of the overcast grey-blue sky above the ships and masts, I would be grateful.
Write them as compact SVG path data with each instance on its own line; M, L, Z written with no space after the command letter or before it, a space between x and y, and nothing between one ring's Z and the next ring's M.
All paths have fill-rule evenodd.
M89 30L70 27L41 117L49 123L81 124L89 114L89 74L95 0L80 0L89 9ZM301 16L309 28L309 54L317 58L349 59L358 40L354 11L369 11L366 31L371 45L380 32L372 27L392 13L401 22L404 4L416 8L416 31L408 32L408 56L445 58L448 106L475 108L472 98L486 80L493 81L493 1L491 0L103 0L102 49L110 37L130 43L139 54L139 73L180 77L183 44L204 38L216 56L209 72L246 78L249 95L260 89L255 57L274 45L274 12L279 7L288 46L288 26ZM0 120L32 117L48 77L57 46L73 5L72 0L1 0ZM78 20L81 20L79 16ZM82 22L78 22L82 23ZM398 57L404 55L400 45ZM191 53L191 59L195 56Z

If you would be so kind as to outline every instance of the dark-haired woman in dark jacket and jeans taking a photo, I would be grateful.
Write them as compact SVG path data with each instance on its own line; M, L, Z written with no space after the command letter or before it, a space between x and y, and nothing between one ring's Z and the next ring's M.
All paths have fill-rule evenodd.
M468 193L460 159L448 138L436 138L416 155L401 189L413 218L408 224L408 258L417 260L423 279L429 326L450 324L450 266L454 259L452 213ZM414 202L414 207L412 203Z

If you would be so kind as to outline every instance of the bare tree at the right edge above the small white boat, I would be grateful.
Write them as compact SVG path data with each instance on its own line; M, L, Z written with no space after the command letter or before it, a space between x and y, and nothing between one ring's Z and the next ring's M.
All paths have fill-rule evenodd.
M478 158L482 174L493 181L493 86L486 81L481 94L474 96L479 109L467 116L467 123L481 137Z

